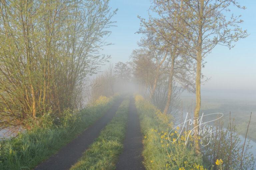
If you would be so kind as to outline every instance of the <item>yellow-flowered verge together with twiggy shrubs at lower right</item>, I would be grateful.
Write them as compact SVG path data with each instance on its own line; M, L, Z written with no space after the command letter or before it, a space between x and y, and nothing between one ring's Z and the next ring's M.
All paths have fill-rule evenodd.
M240 170L253 168L255 158L248 151L251 146L249 142L246 142L243 150L242 143L244 140L240 139L237 128L231 120L230 125L225 130L223 130L221 120L216 123L213 131L217 132L212 134L211 143L208 145L206 145L208 141L202 143L206 146L201 146L202 155L197 155L195 154L194 138L191 135L183 132L178 138L180 133L178 127L169 133L173 129L172 118L163 115L141 96L136 96L135 101L140 114L141 129L145 135L143 156L146 169ZM184 138L189 139L186 145ZM169 139L173 142L170 142ZM216 161L218 159L219 161Z

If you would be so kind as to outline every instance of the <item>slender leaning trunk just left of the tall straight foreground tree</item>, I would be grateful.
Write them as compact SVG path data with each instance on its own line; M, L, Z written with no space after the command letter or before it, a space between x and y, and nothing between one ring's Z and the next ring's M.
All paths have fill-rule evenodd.
M175 63L175 57L172 55L172 65L169 75L169 84L168 84L168 95L167 95L167 101L164 108L164 114L167 114L171 105L171 98L172 98L172 83L173 83L173 73L174 73L174 63Z

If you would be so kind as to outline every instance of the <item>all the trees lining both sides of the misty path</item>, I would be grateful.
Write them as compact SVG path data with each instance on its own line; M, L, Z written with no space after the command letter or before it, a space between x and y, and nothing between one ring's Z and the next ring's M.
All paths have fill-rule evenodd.
M99 55L116 13L108 2L0 2L0 128L22 125L51 109L58 115L79 107L85 79L108 59ZM137 33L143 37L130 62L99 74L89 97L113 95L116 78L134 79L165 114L180 90L195 92L198 117L204 58L218 44L232 48L247 37L231 8L245 9L236 0L153 0L148 19L138 17Z

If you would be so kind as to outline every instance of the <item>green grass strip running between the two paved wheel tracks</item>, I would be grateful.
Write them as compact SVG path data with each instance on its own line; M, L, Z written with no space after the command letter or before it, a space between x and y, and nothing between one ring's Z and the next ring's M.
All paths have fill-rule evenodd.
M118 108L116 115L101 131L99 137L85 151L81 159L71 170L112 170L123 149L129 100L126 99Z

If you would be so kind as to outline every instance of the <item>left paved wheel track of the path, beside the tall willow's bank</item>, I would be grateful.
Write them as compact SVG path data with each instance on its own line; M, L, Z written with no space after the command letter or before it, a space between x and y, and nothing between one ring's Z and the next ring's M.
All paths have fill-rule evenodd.
M122 99L123 100L123 99ZM77 138L64 146L57 154L39 164L35 170L67 170L82 156L88 146L98 137L102 128L111 121L122 100L117 101L106 114L88 127Z

